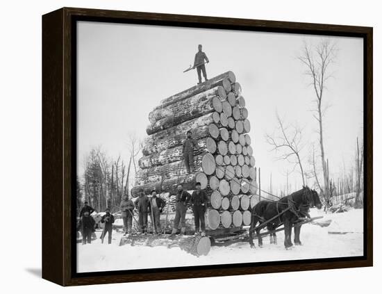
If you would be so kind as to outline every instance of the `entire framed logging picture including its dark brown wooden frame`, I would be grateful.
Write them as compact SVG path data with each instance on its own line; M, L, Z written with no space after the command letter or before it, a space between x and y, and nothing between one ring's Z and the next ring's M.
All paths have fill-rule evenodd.
M372 28L42 17L42 277L372 266Z

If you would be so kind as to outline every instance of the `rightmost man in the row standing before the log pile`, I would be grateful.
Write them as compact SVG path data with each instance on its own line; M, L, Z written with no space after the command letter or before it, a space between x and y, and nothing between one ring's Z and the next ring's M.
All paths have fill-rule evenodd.
M204 222L204 213L206 212L206 192L201 190L201 183L197 182L191 195L190 203L192 204L192 211L194 212L195 222L195 235L201 233L201 236L206 235L206 224ZM199 231L201 229L201 231Z

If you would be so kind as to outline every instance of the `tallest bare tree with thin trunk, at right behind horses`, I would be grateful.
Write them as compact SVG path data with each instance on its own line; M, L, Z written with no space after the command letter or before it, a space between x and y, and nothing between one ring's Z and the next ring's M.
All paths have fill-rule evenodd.
M304 48L302 50L299 60L306 67L306 72L311 80L315 92L315 109L313 110L313 117L317 120L319 125L319 147L321 151L322 159L322 171L324 176L324 195L329 195L329 170L326 166L325 150L324 150L324 131L323 131L323 117L326 111L327 105L324 106L324 89L326 83L331 77L329 68L333 64L335 59L336 46L330 39L322 39L315 47L311 48L306 42L304 42Z

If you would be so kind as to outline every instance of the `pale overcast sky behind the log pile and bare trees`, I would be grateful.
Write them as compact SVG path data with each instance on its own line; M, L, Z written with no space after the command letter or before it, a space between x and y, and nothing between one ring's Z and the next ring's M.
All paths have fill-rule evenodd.
M265 133L276 126L276 111L287 122L304 126L304 164L317 142L313 119L315 94L297 60L303 41L320 36L286 33L224 31L131 24L78 23L77 142L78 170L84 154L101 145L109 156L128 161L127 138L147 136L149 112L161 99L197 83L193 63L197 45L210 59L208 77L231 70L242 85L251 122L252 147L261 168L262 188L274 192L285 183L292 166L275 161ZM363 40L333 38L338 53L324 101L331 107L324 117L324 145L331 174L354 164L356 137L363 138ZM301 185L298 173L290 179Z

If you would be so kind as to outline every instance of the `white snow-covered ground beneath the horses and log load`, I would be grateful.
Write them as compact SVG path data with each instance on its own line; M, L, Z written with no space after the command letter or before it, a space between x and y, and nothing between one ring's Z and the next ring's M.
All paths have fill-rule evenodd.
M310 215L314 217L324 214L323 211L313 210ZM99 239L90 245L78 244L77 270L97 272L363 255L363 210L328 214L324 215L322 220L329 219L332 220L329 227L304 224L301 229L303 245L294 246L291 250L284 249L284 234L279 232L278 245L269 244L269 238L265 237L263 248L257 247L255 240L255 249L251 249L248 243L235 243L226 247L211 247L208 256L200 257L188 254L179 248L167 249L164 246L119 247L122 234L113 231L113 243L110 245L101 244ZM338 234L339 232L348 234ZM97 236L99 234L101 233L97 232Z

